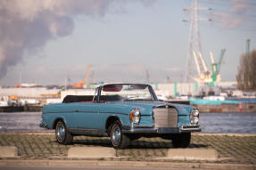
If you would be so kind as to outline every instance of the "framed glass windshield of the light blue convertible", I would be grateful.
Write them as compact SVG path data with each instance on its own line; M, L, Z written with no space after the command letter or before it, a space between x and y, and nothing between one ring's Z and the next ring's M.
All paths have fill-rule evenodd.
M154 101L150 85L104 85L103 101Z

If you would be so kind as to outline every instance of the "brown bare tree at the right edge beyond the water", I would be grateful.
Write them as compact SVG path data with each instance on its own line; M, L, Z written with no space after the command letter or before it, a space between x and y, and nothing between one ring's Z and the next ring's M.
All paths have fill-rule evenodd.
M240 90L256 90L256 51L244 53L236 75L237 88Z

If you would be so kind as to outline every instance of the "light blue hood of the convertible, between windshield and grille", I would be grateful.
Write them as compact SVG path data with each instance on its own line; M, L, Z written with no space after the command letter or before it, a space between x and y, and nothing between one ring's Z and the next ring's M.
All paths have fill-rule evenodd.
M178 109L178 115L189 115L190 111L194 109L194 107L185 105L185 104L176 104L169 103L165 101L118 101L115 104L121 104L122 106L127 106L131 108L137 108L141 110L142 115L151 115L152 110L154 108L158 108L161 106L170 106Z

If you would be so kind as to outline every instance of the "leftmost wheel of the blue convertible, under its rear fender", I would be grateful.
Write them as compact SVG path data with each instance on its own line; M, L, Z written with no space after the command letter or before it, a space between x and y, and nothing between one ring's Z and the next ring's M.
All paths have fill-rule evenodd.
M55 136L57 142L60 144L71 144L73 142L73 136L68 132L65 123L59 120L55 127Z

